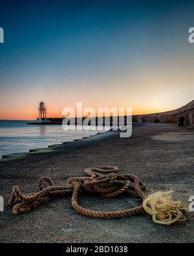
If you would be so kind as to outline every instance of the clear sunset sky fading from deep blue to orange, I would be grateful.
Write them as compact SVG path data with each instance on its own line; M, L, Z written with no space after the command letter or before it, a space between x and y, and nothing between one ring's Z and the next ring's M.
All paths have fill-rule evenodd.
M0 119L63 108L130 107L133 114L194 99L193 1L1 0Z

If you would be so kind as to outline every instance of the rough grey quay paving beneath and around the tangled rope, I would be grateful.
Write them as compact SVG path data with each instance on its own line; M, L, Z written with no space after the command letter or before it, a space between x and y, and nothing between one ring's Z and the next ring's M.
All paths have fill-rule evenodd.
M135 126L130 138L118 132L96 135L48 152L27 154L20 159L0 161L0 195L5 211L0 213L1 242L194 242L194 214L187 222L160 226L146 214L114 220L78 215L70 197L58 198L23 215L13 215L7 202L12 186L22 192L37 191L40 176L50 176L67 185L71 176L83 176L83 169L115 165L120 173L136 174L147 192L173 189L188 204L194 195L194 129L172 124ZM114 199L80 196L80 204L96 210L128 209L141 204L127 197Z

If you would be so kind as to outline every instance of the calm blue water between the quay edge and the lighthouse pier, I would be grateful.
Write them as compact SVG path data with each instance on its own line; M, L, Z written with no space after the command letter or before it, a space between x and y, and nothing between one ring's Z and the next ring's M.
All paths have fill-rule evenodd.
M44 148L96 133L65 132L61 125L29 125L27 121L0 121L0 158L5 154L28 152L32 148Z

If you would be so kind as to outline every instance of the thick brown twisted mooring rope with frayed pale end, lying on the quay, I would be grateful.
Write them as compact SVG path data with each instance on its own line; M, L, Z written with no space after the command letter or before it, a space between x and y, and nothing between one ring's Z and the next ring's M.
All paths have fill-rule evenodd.
M14 205L13 213L26 213L34 207L45 204L55 196L72 195L72 207L81 215L92 218L122 218L133 216L142 211L146 211L153 216L153 221L159 224L172 224L177 221L184 221L187 208L180 201L171 200L170 192L156 192L150 196L145 194L146 186L133 174L115 174L117 167L102 166L90 167L83 171L87 177L69 178L69 187L55 186L54 182L47 176L39 178L38 192L22 194L18 187L13 187L9 200L10 205ZM103 175L105 173L106 175ZM48 183L48 187L43 187L43 182ZM78 204L78 194L80 192L88 194L100 194L106 198L113 198L119 194L138 197L143 200L143 205L122 211L92 211L81 207Z

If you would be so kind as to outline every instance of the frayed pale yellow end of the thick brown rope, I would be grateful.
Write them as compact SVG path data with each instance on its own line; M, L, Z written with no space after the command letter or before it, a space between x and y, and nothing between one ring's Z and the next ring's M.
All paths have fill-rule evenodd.
M153 222L170 225L186 221L188 207L183 202L172 199L173 191L158 191L144 199L144 210L152 216Z

